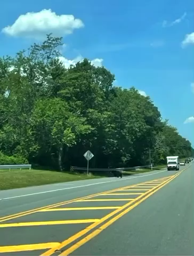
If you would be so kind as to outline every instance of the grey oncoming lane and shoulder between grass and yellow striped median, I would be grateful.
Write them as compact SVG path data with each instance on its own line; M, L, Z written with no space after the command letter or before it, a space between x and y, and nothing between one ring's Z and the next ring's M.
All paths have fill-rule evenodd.
M0 191L0 218L4 215L28 211L151 179L159 179L175 173L161 170L122 179L101 178Z

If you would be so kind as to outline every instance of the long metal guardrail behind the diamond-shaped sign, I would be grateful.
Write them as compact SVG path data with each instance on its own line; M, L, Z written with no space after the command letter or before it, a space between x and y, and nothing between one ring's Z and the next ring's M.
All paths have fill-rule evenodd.
M123 167L123 168L89 168L89 171L128 171L128 170L132 170L132 171L136 171L138 169L141 168L145 168L145 167L150 167L152 169L152 164L151 165L143 165L143 166L135 166L135 167ZM70 171L87 171L87 167L78 167L78 166L71 166L70 167Z

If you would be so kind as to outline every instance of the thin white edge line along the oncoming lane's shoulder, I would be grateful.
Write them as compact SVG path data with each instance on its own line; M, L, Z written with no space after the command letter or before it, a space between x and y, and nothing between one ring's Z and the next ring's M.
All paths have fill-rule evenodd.
M19 198L19 197L25 197L25 196L33 196L33 195L39 195L39 194L46 194L46 193L51 193L51 192L60 191L60 190L66 190L66 189L72 189L72 188L88 187L88 186L99 185L99 184L115 182L115 181L123 181L123 180L129 180L129 179L136 179L136 178L140 178L140 177L146 177L146 176L150 176L150 175L155 175L155 174L160 173L160 172L166 172L166 170L155 172L155 173L150 173L150 174L147 174L147 175L140 175L140 176L137 176L137 177L126 178L126 179L103 181L103 182L92 183L92 184L81 185L81 186L70 187L70 188L59 188L59 189L47 190L47 191L37 192L37 193L32 193L32 194L13 196L13 197L6 197L6 198L1 198L0 201L1 200L9 200L9 199L13 199L13 198Z

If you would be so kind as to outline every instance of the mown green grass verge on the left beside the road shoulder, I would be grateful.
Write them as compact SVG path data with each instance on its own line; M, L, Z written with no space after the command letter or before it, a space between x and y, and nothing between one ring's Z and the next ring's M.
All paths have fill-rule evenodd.
M102 178L102 176L44 170L0 170L0 190Z

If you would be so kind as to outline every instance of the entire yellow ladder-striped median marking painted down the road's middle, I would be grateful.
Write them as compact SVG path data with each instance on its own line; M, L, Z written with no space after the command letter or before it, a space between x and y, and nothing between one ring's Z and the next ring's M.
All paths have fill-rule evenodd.
M189 166L188 166L189 167ZM184 170L188 169L185 168ZM64 201L56 204L51 204L43 207L39 207L33 210L25 211L25 212L19 212L16 214L12 215L7 215L2 218L0 218L0 222L4 222L10 219L15 219L19 218L25 215L33 214L36 212L47 212L47 211L77 211L77 210L99 210L99 209L112 209L115 210L106 216L104 216L101 219L90 219L90 220L85 220L85 223L90 223L90 226L86 227L85 229L79 231L77 234L69 237L65 241L61 243L44 243L44 244L26 244L26 245L12 245L12 246L0 246L0 252L19 252L19 251L33 251L33 250L43 250L46 249L47 251L44 252L41 256L46 256L46 255L52 255L53 253L61 253L59 255L69 255L70 253L74 252L76 249L78 249L80 246L85 244L86 242L90 241L93 237L97 236L98 234L101 233L102 230L106 229L108 226L110 226L112 223L114 223L116 220L121 218L124 214L130 212L134 207L138 206L141 202L146 200L148 197L150 197L152 194L156 193L160 188L164 187L167 183L171 182L173 179L175 179L178 175L180 175L184 170L181 172L172 175L171 177L164 177L164 178L159 178L157 180L152 180L152 181L146 181L146 182L141 182L135 185L131 186L126 186L122 188L117 188L109 191L104 191L101 193L93 194L90 196L85 196L85 197L79 197L76 199L72 199L69 201ZM141 191L141 192L140 192ZM142 193L143 191L143 193ZM116 192L122 192L122 193L116 193ZM134 193L132 193L134 192ZM96 196L108 196L108 195L139 195L136 198L126 198L126 199L92 199L93 197ZM101 206L101 207L63 207L61 208L56 208L58 206L63 206L67 205L70 203L74 202L96 202L96 201L130 201L123 206ZM98 208L98 209L97 209ZM64 220L63 224L66 224L69 220ZM83 223L83 220L79 220ZM33 222L34 224L28 225L27 223L15 223L17 227L19 226L35 226L35 223L39 225L57 225L59 224L57 221L56 223L40 223L40 222ZM61 221L60 221L61 222ZM70 221L71 223L74 223L74 221ZM75 223L78 223L77 220L75 220ZM13 227L14 223L5 223L5 224L0 224L0 227L7 227L7 225L11 225ZM15 227L16 227L15 226ZM89 234L88 234L89 233Z

